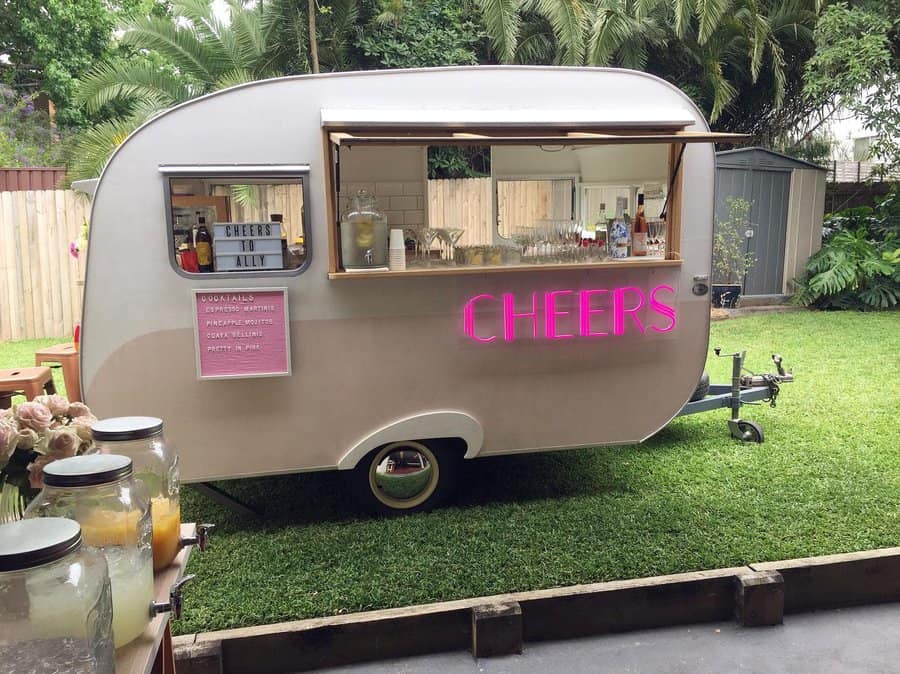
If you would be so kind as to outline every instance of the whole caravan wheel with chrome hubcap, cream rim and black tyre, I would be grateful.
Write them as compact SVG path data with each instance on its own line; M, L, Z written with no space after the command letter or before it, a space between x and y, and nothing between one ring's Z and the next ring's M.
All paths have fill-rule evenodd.
M392 442L354 468L353 491L379 515L431 510L452 493L462 455L435 440Z

